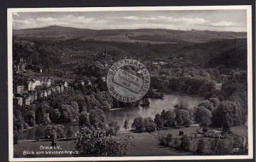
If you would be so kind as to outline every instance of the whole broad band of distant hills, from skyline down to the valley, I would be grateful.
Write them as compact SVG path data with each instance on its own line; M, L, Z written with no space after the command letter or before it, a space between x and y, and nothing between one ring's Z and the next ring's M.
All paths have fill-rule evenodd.
M241 38L242 37L242 38ZM114 59L183 57L205 67L247 68L246 33L166 29L90 30L48 26L14 30L14 58L30 57L46 67L86 60L107 50ZM31 45L32 43L32 45Z

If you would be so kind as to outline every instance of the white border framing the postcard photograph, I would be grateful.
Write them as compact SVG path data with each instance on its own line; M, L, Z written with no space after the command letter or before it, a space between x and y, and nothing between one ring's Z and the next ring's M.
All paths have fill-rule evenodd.
M72 11L164 11L164 10L247 10L247 94L248 94L248 155L242 156L124 156L124 157L73 157L73 158L14 158L13 145L13 83L12 83L12 29L14 12L72 12ZM9 96L9 161L129 161L129 160L203 160L253 158L252 119L252 6L143 6L143 7L87 7L87 8L8 8L8 96Z

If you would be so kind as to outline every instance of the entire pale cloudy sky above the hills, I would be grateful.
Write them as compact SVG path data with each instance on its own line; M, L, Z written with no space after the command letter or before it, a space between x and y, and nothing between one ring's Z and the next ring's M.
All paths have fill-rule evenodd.
M213 30L246 32L246 10L13 12L13 28Z

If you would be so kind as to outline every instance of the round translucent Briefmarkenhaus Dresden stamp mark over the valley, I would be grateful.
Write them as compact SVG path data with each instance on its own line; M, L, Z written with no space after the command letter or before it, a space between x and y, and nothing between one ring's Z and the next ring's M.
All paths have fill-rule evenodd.
M121 59L107 71L110 94L124 103L142 99L149 91L150 74L146 66L135 59Z

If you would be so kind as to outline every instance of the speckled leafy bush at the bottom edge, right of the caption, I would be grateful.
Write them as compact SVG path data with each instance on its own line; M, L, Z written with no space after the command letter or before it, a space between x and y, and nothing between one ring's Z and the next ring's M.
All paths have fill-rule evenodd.
M83 125L75 140L75 149L84 156L125 156L127 146L132 144L130 138L116 139L112 135L107 136L104 130L91 130Z

